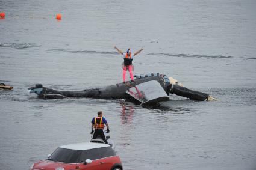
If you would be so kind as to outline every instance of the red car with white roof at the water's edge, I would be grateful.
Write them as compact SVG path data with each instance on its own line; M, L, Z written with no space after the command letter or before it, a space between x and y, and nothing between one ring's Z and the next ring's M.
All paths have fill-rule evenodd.
M58 147L30 170L122 170L120 157L107 144L80 143Z

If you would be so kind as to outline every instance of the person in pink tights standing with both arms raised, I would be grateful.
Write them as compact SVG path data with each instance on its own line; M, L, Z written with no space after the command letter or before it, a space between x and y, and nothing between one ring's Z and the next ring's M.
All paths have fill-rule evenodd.
M123 83L125 83L125 76L126 76L126 71L127 69L129 70L130 73L130 77L131 77L131 82L134 82L133 80L133 57L136 56L137 54L139 54L142 50L137 50L137 52L134 53L134 55L131 54L131 49L129 48L126 53L123 53L120 49L118 49L116 46L114 46L114 48L123 55Z

